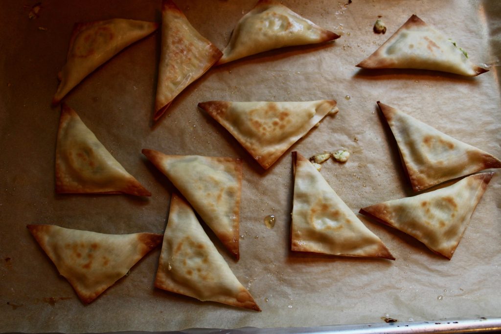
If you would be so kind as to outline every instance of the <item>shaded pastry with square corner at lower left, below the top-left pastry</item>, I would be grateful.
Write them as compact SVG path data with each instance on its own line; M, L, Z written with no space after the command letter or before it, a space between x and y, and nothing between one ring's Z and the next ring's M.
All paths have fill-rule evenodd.
M56 147L56 192L151 196L64 103Z

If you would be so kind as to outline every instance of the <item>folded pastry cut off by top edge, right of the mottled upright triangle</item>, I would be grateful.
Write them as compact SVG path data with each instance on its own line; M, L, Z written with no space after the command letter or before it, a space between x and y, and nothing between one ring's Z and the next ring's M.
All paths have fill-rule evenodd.
M322 43L339 37L284 5L259 0L236 24L217 65L268 50Z

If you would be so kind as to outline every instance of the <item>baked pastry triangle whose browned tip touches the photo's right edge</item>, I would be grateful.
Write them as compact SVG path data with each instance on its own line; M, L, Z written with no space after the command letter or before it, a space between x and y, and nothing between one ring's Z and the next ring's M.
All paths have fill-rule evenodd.
M414 191L487 168L501 168L492 155L465 144L378 101L400 150Z

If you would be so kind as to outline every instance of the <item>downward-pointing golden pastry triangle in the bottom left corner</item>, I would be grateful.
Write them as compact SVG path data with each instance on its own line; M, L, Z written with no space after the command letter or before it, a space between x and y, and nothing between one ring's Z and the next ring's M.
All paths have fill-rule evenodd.
M56 225L28 225L52 262L90 303L162 241L160 234L103 234Z

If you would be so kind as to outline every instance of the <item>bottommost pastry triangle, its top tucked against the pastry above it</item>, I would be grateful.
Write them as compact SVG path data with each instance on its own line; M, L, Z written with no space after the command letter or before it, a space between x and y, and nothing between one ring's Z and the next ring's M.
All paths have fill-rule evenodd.
M261 310L217 252L191 206L176 194L170 202L155 286L202 301Z

